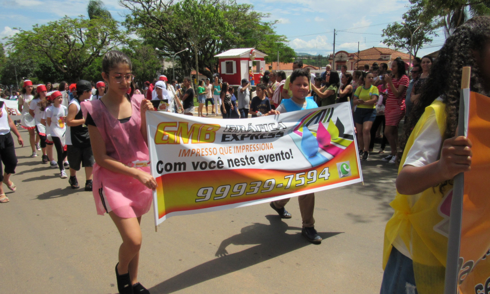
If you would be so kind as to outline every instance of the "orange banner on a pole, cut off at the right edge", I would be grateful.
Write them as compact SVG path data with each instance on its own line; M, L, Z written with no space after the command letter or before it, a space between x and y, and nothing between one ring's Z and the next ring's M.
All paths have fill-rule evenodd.
M490 98L471 92L467 137L473 144L471 170L465 172L459 290L463 294L490 293ZM450 200L449 200L450 201Z

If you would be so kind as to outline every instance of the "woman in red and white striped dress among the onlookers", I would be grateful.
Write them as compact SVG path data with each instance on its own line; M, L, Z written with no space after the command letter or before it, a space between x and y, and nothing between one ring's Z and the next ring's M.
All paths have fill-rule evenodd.
M388 95L385 106L385 136L392 149L391 154L384 157L383 161L395 163L398 145L398 124L405 116L405 93L407 92L410 80L405 73L405 62L395 59L392 62L392 75L386 75Z

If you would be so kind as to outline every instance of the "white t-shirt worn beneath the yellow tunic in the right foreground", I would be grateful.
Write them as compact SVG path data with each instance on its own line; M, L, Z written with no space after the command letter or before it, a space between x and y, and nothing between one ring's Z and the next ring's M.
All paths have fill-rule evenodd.
M438 98L440 100L440 98ZM407 157L403 166L411 165L414 167L423 167L439 160L442 148L441 131L436 120L436 114L433 112L423 125L420 133L415 139L414 144L408 150ZM410 207L413 207L417 202L420 194L409 195L408 200ZM400 251L401 254L412 258L412 254L403 242L400 236L397 236L393 241L393 246Z

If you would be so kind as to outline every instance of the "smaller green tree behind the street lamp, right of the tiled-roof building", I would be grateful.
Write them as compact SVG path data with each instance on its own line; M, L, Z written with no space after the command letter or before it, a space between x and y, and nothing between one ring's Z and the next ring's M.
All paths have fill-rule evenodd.
M394 47L396 50L406 49L413 56L417 56L420 48L432 42L433 38L431 36L438 36L436 29L439 25L437 21L421 22L420 13L421 10L417 5L410 7L402 16L406 25L393 23L383 29L382 37L385 37L383 43ZM414 34L413 37L411 33ZM412 41L413 48L411 48Z

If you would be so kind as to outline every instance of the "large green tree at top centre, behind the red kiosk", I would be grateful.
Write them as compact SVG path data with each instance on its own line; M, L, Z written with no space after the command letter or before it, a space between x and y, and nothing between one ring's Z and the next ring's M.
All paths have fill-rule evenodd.
M134 30L145 44L168 52L168 57L190 49L177 55L186 73L197 64L198 71L210 77L218 72L214 55L232 48L253 47L271 56L277 56L280 50L285 60L292 56L293 51L285 45L283 36L272 38L274 22L263 21L269 14L254 11L250 4L238 4L234 0L119 2L130 11L123 24L128 30ZM282 45L274 46L272 43L276 41Z

